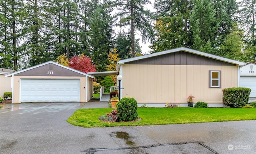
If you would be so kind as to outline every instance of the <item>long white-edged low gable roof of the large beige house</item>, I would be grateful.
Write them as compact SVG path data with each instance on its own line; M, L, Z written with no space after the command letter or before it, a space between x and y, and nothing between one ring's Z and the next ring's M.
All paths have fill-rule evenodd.
M228 62L230 64L235 64L237 66L244 66L245 65L244 62L239 62L239 61L236 61L236 60L231 60L231 59L228 59L228 58L215 56L213 54L208 54L208 53L205 53L205 52L200 52L200 51L197 51L197 50L193 50L193 49L190 49L190 48L181 47L181 48L175 48L175 49L166 50L166 51L162 51L162 52L157 52L157 53L154 53L154 54L147 54L147 55L143 55L143 56L139 56L139 57L120 60L118 62L117 66L119 66L119 64L125 64L127 62L132 62L132 61L141 60L141 59L145 59L145 58L151 58L151 57L154 57L154 56L160 56L160 55L164 55L164 54L170 54L170 53L179 52L179 51L184 51L184 52L196 54L196 55L199 55L199 56L204 56L204 57L212 58L212 59L215 59L215 60Z

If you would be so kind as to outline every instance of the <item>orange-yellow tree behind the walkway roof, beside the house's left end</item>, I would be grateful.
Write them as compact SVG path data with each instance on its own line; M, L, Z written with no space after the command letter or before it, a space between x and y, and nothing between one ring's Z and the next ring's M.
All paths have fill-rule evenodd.
M108 62L109 65L107 65L107 71L115 71L116 70L116 63L120 60L118 58L119 54L117 53L117 48L114 47L114 49L110 50L110 53L108 54ZM112 75L110 76L114 83L116 83L116 76Z

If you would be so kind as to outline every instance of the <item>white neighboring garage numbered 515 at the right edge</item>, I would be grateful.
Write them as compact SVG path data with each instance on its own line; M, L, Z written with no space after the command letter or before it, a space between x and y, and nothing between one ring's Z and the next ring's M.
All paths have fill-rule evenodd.
M250 88L250 102L256 101L256 63L248 62L240 68L240 87Z

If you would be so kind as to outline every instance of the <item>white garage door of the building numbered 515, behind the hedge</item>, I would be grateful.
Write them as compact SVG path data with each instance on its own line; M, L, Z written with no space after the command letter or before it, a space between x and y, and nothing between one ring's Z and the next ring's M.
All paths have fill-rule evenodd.
M250 88L250 97L256 97L256 76L240 76L240 87Z

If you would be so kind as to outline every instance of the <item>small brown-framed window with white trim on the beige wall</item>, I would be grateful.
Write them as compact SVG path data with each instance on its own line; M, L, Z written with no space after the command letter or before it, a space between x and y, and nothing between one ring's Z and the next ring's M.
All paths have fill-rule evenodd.
M221 88L221 71L209 71L209 88Z

